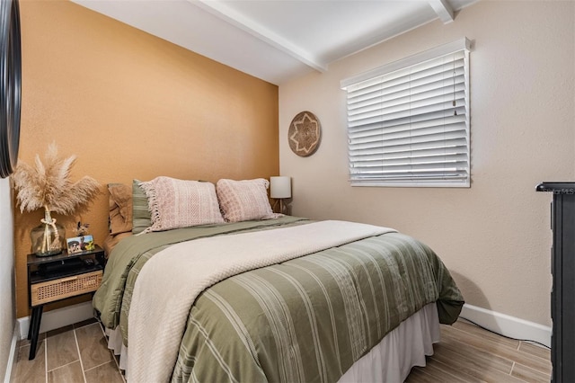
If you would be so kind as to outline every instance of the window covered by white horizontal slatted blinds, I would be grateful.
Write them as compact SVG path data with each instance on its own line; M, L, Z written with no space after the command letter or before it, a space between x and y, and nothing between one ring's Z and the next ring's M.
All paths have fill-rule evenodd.
M352 186L470 185L470 41L341 81Z

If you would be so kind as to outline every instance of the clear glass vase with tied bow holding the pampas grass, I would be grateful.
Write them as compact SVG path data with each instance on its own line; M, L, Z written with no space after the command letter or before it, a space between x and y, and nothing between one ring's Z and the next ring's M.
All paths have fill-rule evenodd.
M62 253L66 249L66 230L47 210L40 226L31 229L31 252L37 256L49 256Z

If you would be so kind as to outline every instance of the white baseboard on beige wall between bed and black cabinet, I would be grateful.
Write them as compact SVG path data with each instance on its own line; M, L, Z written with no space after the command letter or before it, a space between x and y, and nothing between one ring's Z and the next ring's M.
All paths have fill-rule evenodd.
M465 304L461 310L462 317L499 334L516 339L525 339L543 343L551 347L552 328L539 325L515 316L491 311L486 308Z

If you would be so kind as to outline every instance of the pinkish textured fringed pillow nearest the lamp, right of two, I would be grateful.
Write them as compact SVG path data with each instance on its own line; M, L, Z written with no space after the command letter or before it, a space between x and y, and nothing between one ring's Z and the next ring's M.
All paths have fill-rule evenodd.
M217 200L227 222L250 219L276 218L268 200L270 182L255 180L219 180L216 185Z

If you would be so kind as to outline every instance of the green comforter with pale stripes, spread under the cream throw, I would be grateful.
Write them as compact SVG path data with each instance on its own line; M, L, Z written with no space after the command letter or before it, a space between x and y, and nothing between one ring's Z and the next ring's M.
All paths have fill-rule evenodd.
M216 236L301 223L282 218L191 231ZM129 238L128 245L122 241L112 252L94 297L104 325L123 324L126 334L138 271L165 248L160 244L166 237L177 243L190 234L164 233L142 250L142 240L155 242L146 236ZM134 248L135 254L124 255ZM429 247L398 233L244 272L196 299L173 381L336 381L385 334L435 301L440 321L453 323L463 298L447 269Z

